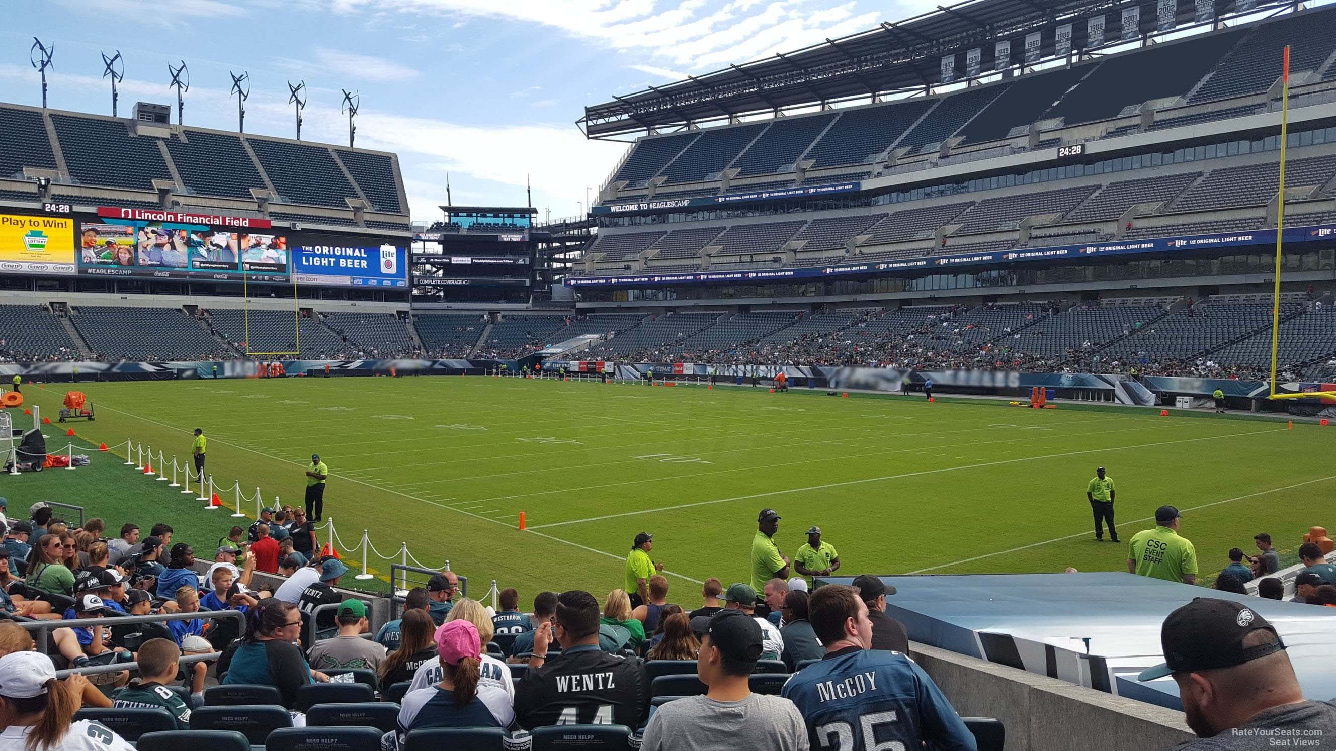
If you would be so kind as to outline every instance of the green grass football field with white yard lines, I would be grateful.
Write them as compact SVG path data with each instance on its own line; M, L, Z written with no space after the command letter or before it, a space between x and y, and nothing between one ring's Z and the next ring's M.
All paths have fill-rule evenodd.
M24 393L55 420L67 388ZM96 422L72 424L80 440L118 449L132 438L184 464L199 426L220 485L239 480L290 504L302 502L305 468L319 453L331 473L325 514L342 540L367 529L385 555L406 541L428 567L449 559L472 593L496 579L525 601L537 589L620 587L641 531L672 575L680 596L671 599L692 601L705 577L747 579L764 506L783 516L776 541L788 555L820 525L842 575L1118 571L1125 545L1093 540L1085 486L1097 465L1117 482L1124 541L1152 525L1156 506L1174 504L1204 577L1230 547L1250 551L1257 532L1292 559L1311 525L1336 527L1336 470L1321 449L1329 429L1309 424L482 377L79 388L98 412ZM0 477L0 494L11 508L83 502L112 533L127 520L146 533L166 520L198 544L236 521L120 457L94 461L92 472ZM254 504L243 510L254 514ZM387 571L374 557L371 567Z

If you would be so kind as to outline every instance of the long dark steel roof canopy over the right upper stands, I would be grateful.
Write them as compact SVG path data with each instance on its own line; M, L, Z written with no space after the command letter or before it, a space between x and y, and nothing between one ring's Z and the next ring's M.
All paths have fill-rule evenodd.
M1275 0L1204 0L1204 4L1213 5L1213 20L1293 7ZM981 53L979 75L995 75L995 41L1013 40L1014 64L1021 59L1026 35L1039 32L1041 59L1027 64L1053 59L1054 31L1063 24L1071 24L1073 49L1092 52L1125 45L1129 40L1120 33L1121 13L1132 7L1142 7L1141 35L1169 31L1160 29L1153 1L965 0L796 52L613 96L612 102L585 107L585 116L576 124L589 138L611 138L879 94L926 91L942 82L943 55L975 47ZM1196 0L1177 0L1172 29L1182 32L1200 25L1201 31L1209 31L1213 21L1197 21L1197 11ZM1098 16L1105 16L1109 31L1101 44L1089 44L1086 19Z

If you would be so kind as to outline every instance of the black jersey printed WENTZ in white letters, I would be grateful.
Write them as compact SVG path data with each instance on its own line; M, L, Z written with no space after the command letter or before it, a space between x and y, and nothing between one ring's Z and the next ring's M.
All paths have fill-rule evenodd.
M645 724L649 680L635 657L596 645L572 647L529 671L514 694L516 723L525 730L550 724Z

